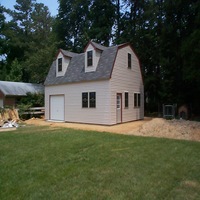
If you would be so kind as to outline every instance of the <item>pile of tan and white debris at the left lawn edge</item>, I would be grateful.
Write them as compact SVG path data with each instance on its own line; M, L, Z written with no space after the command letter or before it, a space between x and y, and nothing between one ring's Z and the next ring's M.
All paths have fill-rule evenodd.
M17 128L19 115L17 109L1 109L0 128Z

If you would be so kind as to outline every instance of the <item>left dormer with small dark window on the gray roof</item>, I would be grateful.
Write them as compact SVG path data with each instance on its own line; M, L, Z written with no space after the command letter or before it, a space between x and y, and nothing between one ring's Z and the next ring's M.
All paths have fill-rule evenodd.
M56 57L56 77L64 76L75 53L60 49Z

